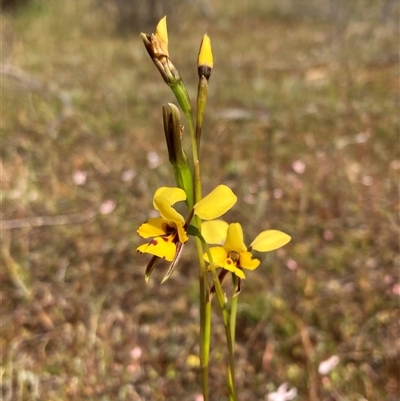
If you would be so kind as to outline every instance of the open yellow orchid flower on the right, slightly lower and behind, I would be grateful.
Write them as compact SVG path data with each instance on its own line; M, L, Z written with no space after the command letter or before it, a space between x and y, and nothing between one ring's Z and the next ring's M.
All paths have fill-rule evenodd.
M210 248L215 266L236 274L239 279L246 278L243 269L254 270L260 265L259 259L253 258L252 250L274 251L286 245L291 239L282 231L267 230L258 234L250 246L246 247L242 226L239 223L228 224L222 220L204 222L201 232L208 244L221 245ZM204 259L209 261L206 254Z

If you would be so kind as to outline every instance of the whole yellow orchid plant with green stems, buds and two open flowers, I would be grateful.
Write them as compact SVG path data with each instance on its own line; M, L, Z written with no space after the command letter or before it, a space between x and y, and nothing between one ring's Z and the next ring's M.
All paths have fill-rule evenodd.
M159 70L165 83L170 86L181 110L185 114L191 138L193 168L182 147L183 127L177 106L168 103L163 106L163 124L167 142L169 161L172 165L176 187L158 188L153 197L153 207L159 217L151 218L138 228L138 234L149 242L137 248L139 253L152 257L145 271L149 280L158 260L170 262L162 283L173 273L182 254L184 245L190 237L195 238L199 261L200 287L200 363L201 383L204 401L209 401L208 385L209 354L211 335L211 302L216 294L221 309L229 363L227 385L230 401L236 401L234 342L238 295L241 281L245 279L244 270L254 270L260 260L252 252L269 252L286 245L290 236L278 231L261 232L246 247L243 230L239 223L218 220L236 203L237 198L226 185L218 185L207 196L202 196L200 160L198 149L201 142L204 113L208 95L208 81L213 70L211 41L204 35L198 56L198 91L196 118L193 118L191 101L179 71L173 65L168 50L168 32L166 17L162 18L154 34L141 34L145 48ZM187 206L186 219L173 207L178 202ZM217 245L210 247L209 245ZM217 274L216 269L220 269ZM230 300L224 294L221 282L231 273L234 292Z

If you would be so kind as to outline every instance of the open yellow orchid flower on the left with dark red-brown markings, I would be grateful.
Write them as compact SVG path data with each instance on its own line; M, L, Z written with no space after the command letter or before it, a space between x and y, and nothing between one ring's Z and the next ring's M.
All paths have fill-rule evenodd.
M163 282L171 275L181 254L183 245L188 241L187 228L194 214L202 220L216 219L226 213L235 203L236 196L226 185L217 186L210 194L197 202L186 219L172 206L186 200L181 188L161 187L154 194L153 206L160 217L152 218L140 225L137 233L142 238L153 238L149 243L137 248L139 253L154 255L146 269L146 279L150 276L157 258L171 263Z

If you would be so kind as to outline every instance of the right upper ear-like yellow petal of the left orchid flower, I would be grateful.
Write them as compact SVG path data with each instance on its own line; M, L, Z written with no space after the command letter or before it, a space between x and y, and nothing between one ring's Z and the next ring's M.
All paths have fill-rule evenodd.
M213 220L226 213L236 201L236 195L229 187L218 185L194 205L195 214L203 220Z

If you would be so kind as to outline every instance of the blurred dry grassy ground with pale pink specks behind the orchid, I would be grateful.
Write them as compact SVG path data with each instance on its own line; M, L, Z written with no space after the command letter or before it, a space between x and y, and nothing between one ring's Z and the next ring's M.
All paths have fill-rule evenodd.
M398 2L2 6L2 400L199 393L191 248L162 286L166 266L145 285L135 251L154 190L174 183L161 119L174 99L139 37L164 14L192 98L212 39L204 192L236 192L226 217L247 243L269 228L293 238L243 284L240 400L283 382L299 400L400 399ZM212 399L224 400L217 307L213 324Z

